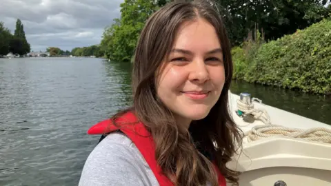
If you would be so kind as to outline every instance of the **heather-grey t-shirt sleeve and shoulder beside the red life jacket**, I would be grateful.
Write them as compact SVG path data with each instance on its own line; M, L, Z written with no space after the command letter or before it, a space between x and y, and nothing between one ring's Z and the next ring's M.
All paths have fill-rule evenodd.
M106 136L88 156L79 186L157 186L152 169L130 138L122 133Z

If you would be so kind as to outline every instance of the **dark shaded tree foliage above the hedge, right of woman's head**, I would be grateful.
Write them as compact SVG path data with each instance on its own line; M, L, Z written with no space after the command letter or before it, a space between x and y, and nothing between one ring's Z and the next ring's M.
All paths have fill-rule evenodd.
M325 17L330 17L331 8L326 8L326 1L319 0L261 0L234 1L215 0L232 45L240 45L248 30L255 24L263 28L265 39L278 39L285 34L292 34L297 29L307 28Z

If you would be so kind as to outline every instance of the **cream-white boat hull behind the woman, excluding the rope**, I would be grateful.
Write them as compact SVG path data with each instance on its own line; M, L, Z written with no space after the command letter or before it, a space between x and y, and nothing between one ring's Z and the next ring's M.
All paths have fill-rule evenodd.
M230 94L232 117L243 132L257 125L265 125L262 121L245 123L235 112L238 99L238 95ZM254 107L265 109L274 125L303 130L313 127L331 130L330 125L275 107L261 103L254 103ZM272 136L252 142L244 138L241 154L234 156L228 167L243 172L239 176L239 185L243 186L273 186L279 180L288 186L330 186L331 144L286 136Z

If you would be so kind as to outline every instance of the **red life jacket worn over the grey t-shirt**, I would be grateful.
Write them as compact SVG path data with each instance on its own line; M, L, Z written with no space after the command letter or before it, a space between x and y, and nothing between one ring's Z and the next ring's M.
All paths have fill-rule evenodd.
M127 112L123 114L120 118L117 119L117 123L136 123L137 118L134 116L132 112ZM146 130L146 127L143 123L139 122L134 125L124 125L121 128L117 128L116 126L112 125L112 121L110 119L101 121L96 125L90 127L88 130L88 134L107 134L113 132L115 130L121 130L126 136L128 136L134 145L137 146L143 157L145 158L146 162L152 169L154 176L157 178L159 185L161 186L170 186L174 185L168 177L166 177L159 165L157 165L157 160L155 158L155 148L154 148L154 141L150 132ZM226 181L224 176L221 174L219 169L214 166L217 174L219 176L219 185L226 186Z

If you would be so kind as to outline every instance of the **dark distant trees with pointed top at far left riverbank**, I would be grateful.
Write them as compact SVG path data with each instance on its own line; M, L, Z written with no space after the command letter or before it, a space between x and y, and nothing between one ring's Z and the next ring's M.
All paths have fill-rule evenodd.
M30 52L30 43L26 40L26 34L20 19L16 21L14 34L0 21L0 55L7 55L9 52L20 55Z

